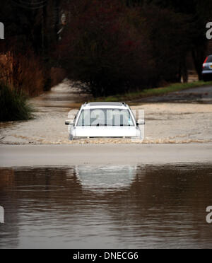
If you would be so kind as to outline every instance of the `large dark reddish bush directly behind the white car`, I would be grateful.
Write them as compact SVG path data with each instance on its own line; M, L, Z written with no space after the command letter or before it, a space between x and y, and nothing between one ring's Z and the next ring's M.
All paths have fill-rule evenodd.
M149 86L153 63L138 12L122 1L74 1L71 24L59 45L69 78L95 97Z

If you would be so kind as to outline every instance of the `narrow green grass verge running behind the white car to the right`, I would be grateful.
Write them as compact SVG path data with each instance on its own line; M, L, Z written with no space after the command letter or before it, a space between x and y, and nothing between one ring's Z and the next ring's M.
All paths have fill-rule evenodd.
M212 85L212 81L204 82L204 81L195 81L191 83L174 83L169 86L165 86L162 88L148 88L141 91L117 94L108 97L99 97L95 98L94 101L105 101L105 102L115 102L115 101L133 101L139 100L141 98L152 97L152 96L160 96L165 95L167 93L172 93L175 91L186 90L188 88L196 88L201 86Z

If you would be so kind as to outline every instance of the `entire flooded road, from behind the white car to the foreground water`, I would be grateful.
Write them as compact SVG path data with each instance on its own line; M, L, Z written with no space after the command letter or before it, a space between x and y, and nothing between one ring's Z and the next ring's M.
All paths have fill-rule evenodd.
M68 141L85 100L64 81L30 100L34 119L0 124L0 248L211 248L212 104L134 105L142 144Z

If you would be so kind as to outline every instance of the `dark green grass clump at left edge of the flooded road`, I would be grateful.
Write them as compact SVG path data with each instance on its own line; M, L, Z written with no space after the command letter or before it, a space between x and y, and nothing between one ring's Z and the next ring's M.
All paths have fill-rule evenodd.
M0 83L0 122L31 119L32 111L25 95Z

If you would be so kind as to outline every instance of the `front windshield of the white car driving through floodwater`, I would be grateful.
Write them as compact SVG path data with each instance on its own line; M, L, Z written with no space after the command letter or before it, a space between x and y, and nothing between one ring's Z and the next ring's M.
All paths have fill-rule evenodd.
M76 126L134 126L129 110L82 110Z

